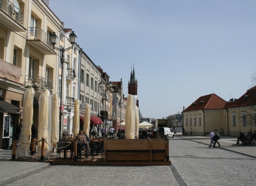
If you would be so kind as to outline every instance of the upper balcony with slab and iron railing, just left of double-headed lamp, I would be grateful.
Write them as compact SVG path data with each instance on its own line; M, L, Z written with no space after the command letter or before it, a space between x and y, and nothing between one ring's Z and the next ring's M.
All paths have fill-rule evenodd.
M28 27L27 43L45 55L56 55L50 36L40 27Z

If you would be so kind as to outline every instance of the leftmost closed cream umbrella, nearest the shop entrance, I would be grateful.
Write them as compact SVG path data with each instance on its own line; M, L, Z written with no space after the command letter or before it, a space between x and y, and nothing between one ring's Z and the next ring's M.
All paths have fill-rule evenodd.
M22 120L22 129L20 132L19 141L22 143L31 142L31 126L33 122L33 102L34 102L34 89L30 86L26 89L24 93L24 104L23 104L23 120ZM19 143L17 146L17 157L27 156L29 153L29 144Z

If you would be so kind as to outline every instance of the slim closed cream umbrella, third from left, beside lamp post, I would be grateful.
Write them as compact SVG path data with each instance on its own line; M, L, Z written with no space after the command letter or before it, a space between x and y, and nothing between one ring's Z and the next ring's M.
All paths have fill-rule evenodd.
M59 141L59 102L58 102L58 94L54 93L52 97L52 145L57 146L57 142Z

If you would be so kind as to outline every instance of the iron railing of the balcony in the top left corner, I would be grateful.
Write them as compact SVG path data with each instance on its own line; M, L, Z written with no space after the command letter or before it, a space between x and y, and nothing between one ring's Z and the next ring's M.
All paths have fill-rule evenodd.
M9 0L0 0L0 9L2 9L7 15L9 15L13 20L16 20L20 25L23 26L24 18L23 11L13 5Z

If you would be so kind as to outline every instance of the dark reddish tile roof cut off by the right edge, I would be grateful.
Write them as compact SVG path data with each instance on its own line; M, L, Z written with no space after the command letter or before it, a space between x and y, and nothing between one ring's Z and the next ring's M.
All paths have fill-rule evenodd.
M247 90L238 100L228 102L225 108L255 106L256 105L256 86Z

